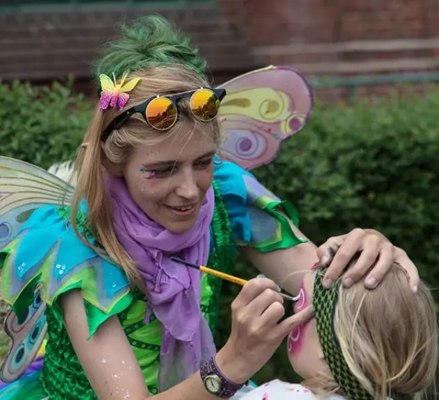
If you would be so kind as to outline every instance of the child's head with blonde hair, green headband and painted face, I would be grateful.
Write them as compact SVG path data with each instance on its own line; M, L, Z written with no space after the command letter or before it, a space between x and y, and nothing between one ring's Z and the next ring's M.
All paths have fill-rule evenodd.
M375 290L321 286L322 270L304 278L299 310L313 302L315 319L292 332L294 369L315 394L352 399L415 398L434 384L438 344L436 308L424 283L417 293L393 265Z

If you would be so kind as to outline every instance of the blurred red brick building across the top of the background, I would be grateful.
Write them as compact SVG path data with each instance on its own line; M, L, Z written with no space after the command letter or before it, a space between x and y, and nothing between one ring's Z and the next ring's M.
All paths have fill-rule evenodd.
M217 82L269 64L310 78L379 76L381 84L360 94L388 90L395 74L439 79L436 0L0 0L0 78L73 74L89 82L92 60L117 23L147 12L191 35ZM320 95L345 97L340 85Z

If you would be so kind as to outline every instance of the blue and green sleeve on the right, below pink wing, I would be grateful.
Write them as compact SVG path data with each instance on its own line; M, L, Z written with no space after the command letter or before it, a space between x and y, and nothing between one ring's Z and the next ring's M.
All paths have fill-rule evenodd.
M265 253L304 242L290 227L288 218L295 226L299 224L299 215L290 201L282 201L253 174L229 161L217 161L214 176L237 244L250 245Z

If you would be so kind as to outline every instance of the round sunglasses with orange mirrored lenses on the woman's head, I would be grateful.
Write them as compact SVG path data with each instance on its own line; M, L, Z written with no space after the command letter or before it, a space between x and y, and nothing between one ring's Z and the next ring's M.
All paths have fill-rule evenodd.
M179 100L189 99L190 112L195 119L209 122L218 115L219 104L226 96L225 89L199 88L188 92L149 97L146 101L124 111L113 119L103 132L101 140L120 128L133 114L140 113L145 121L158 131L166 131L176 124L179 117Z

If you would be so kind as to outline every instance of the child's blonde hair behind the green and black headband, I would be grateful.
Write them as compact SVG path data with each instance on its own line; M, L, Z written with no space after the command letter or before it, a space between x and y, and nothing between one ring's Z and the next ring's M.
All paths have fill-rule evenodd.
M424 283L417 293L411 290L399 265L374 290L362 281L340 285L333 324L349 369L373 399L386 400L390 393L420 399L436 387L435 303ZM343 394L329 369L304 385L317 395Z

